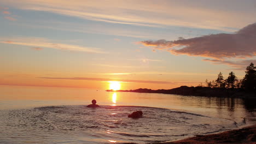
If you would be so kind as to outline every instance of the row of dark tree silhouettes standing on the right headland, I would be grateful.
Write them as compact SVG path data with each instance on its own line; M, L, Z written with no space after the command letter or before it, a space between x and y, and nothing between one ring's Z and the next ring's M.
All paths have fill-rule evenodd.
M229 73L229 76L224 79L222 73L220 72L218 74L218 77L216 80L208 81L206 79L206 86L211 88L243 88L246 91L249 92L256 92L256 67L254 67L254 64L251 63L246 68L246 75L243 77L243 79L238 80L235 76L235 73L231 71ZM201 85L202 86L202 83Z

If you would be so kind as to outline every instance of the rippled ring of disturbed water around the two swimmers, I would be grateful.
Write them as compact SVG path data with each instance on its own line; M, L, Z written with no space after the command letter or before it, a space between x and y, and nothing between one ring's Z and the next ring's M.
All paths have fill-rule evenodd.
M138 110L143 118L127 117ZM22 137L40 143L162 142L234 127L228 119L143 106L45 106L0 114L0 141L5 143L19 143Z

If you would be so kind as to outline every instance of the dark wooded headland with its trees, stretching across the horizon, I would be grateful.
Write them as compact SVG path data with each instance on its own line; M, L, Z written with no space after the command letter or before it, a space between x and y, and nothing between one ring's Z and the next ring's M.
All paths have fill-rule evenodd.
M246 75L242 80L238 80L234 72L224 80L222 73L218 74L216 80L208 81L203 86L200 83L197 87L181 86L172 89L152 90L148 88L139 88L134 90L106 90L107 92L136 92L136 93L163 93L193 95L201 97L234 97L234 98L256 98L256 67L251 63L246 68Z

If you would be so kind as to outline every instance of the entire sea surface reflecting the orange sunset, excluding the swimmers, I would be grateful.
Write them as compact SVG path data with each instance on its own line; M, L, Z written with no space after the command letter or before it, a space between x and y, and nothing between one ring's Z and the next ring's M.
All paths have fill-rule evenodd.
M101 107L86 107L92 99ZM150 143L256 123L255 100L0 86L0 143ZM127 115L143 111L143 118Z

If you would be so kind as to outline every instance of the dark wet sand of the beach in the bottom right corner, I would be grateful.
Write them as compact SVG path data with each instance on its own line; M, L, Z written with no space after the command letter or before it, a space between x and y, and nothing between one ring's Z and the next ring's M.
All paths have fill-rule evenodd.
M256 143L256 124L242 129L229 130L211 135L197 135L188 139L165 142L165 144L217 144L217 143Z

